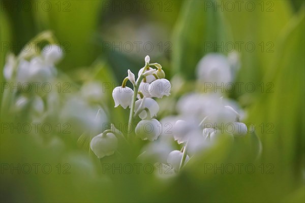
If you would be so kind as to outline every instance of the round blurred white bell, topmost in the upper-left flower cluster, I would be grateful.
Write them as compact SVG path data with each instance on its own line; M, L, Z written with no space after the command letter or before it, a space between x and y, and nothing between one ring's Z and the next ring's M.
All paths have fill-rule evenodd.
M63 50L58 45L48 45L42 49L41 55L47 63L55 64L63 58Z

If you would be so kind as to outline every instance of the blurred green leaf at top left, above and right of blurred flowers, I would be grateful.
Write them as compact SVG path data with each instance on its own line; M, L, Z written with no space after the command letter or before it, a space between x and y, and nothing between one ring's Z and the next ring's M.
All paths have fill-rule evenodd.
M37 21L40 28L51 29L64 49L64 70L85 66L97 57L93 33L98 24L102 1L42 1L51 3L50 11L40 9Z

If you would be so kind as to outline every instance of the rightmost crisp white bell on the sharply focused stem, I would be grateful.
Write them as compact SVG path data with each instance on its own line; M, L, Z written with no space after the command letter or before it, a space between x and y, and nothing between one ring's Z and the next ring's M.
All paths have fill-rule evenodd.
M158 79L150 83L148 91L151 96L162 98L164 95L170 95L171 84L166 79Z

